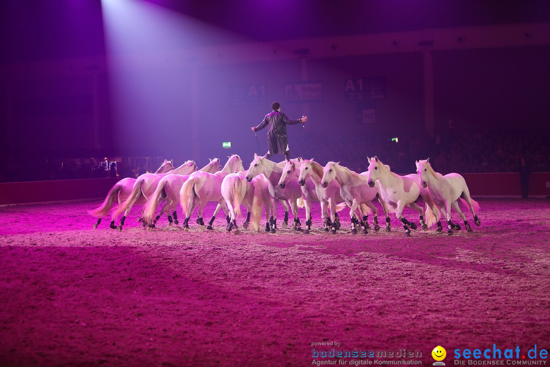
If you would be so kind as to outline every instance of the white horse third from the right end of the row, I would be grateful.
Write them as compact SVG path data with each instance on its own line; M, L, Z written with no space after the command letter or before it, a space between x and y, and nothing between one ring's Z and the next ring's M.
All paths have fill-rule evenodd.
M365 173L356 173L350 169L340 166L338 162L328 162L323 168L323 177L321 178L321 185L323 188L328 188L328 184L336 180L340 186L340 195L342 199L350 207L349 216L351 220L351 233L357 233L357 224L360 224L362 234L367 234L366 218L356 219L356 210L361 204L365 204L367 207L367 213L375 213L374 225L377 231L378 226L378 208L372 204L372 200L378 198L378 201L382 205L382 209L388 217L388 208L386 202L381 199L379 195L379 188L377 185L368 184L368 175ZM388 221L386 221L388 223ZM334 232L333 232L334 233Z

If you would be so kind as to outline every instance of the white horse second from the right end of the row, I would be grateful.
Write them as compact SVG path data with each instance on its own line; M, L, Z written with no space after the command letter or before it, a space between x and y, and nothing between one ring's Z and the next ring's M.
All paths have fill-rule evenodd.
M428 190L422 190L416 177L416 174L408 174L407 176L399 176L391 171L389 166L384 165L378 157L368 158L368 184L374 187L376 182L380 185L380 193L382 199L387 202L395 212L395 218L403 223L405 235L410 235L410 226L416 229L416 224L406 220L402 213L405 206L416 210L420 213L420 225L423 230L427 230L428 226L424 222L424 210L416 204L419 196L430 206L432 210L437 212L437 208L430 198ZM437 213L439 215L439 213Z

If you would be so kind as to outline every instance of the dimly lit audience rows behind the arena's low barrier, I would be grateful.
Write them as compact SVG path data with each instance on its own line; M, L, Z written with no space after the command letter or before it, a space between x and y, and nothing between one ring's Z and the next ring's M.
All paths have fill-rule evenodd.
M550 132L496 132L456 134L431 138L426 134L403 134L398 142L392 136L371 135L365 130L354 134L332 131L306 134L306 147L311 151L304 158L315 158L321 165L339 161L356 172L368 167L367 157L378 158L400 174L415 172L415 160L430 158L437 172L519 172L521 157L530 166L530 172L550 172ZM251 157L250 157L251 158ZM276 157L277 158L277 157ZM282 160L282 159L281 159ZM84 162L84 160L81 160ZM34 180L136 177L145 173L143 167L131 170L119 164L109 171L105 167L92 167L90 163L75 160L38 157L8 157L0 170L0 182ZM246 162L246 159L245 159Z

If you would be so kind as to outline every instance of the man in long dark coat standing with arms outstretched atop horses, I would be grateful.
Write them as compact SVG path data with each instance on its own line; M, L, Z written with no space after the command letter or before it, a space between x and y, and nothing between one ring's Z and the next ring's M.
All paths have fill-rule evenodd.
M307 121L307 116L304 116L298 120L291 120L281 112L281 105L279 102L273 102L271 107L273 112L267 114L263 118L261 124L252 127L253 132L257 132L266 126L267 131L267 154L266 157L270 157L274 154L284 154L287 160L290 160L290 152L288 150L287 139L287 125L300 124Z

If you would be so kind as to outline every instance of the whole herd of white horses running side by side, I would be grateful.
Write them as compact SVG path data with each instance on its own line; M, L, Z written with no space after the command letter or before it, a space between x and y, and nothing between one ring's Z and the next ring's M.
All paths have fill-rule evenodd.
M260 231L265 207L265 231L276 233L277 205L281 203L285 208L283 228L288 226L290 207L294 216L293 229L310 233L311 204L318 202L321 205L324 231L337 233L340 229L338 212L348 207L351 233L356 234L360 228L362 234L367 234L368 229L380 229L378 209L373 205L373 200L378 200L386 218L386 231L390 231L390 212L395 213L397 220L403 224L405 235L410 235L411 229L417 229L415 222L403 216L404 207L409 207L419 212L420 227L424 231L437 223L436 231L442 232L440 214L443 214L450 235L461 229L460 224L451 221L451 206L464 221L467 232L472 232L458 205L460 199L470 210L474 223L480 226L481 221L477 217L480 206L471 199L470 191L460 174L443 176L433 170L429 158L416 161L416 173L406 176L393 173L378 157L368 158L368 163L367 171L356 173L339 162L328 162L324 167L313 159L303 158L276 163L256 154L246 171L238 155L230 156L223 168L218 158L211 159L201 169L194 161L187 161L174 168L173 161L164 160L155 173L120 180L109 190L102 204L89 213L98 217L94 224L94 228L97 228L102 218L111 212L110 226L120 231L132 207L135 204L144 205L138 220L151 230L163 213L167 213L169 226L179 224L177 206L180 204L185 215L183 227L187 231L195 209L196 223L204 229L202 211L208 202L217 201L207 229L213 229L216 216L223 209L226 213L226 231L239 233L237 218L241 215L242 204L248 210L243 228L251 226L254 231ZM425 208L417 204L420 198L425 202ZM118 205L113 209L116 201ZM159 206L161 209L157 213ZM305 207L306 211L304 228L298 216L299 207ZM117 226L116 218L123 212ZM373 216L373 227L368 223L369 215Z

